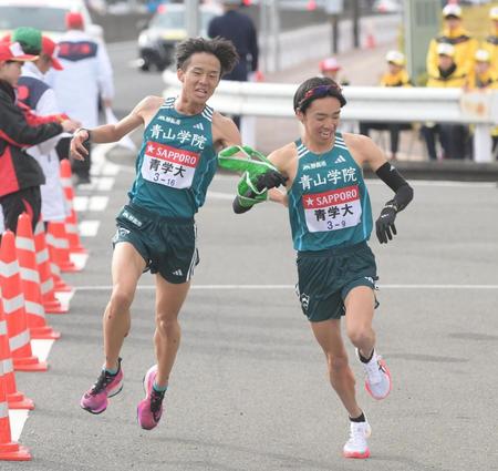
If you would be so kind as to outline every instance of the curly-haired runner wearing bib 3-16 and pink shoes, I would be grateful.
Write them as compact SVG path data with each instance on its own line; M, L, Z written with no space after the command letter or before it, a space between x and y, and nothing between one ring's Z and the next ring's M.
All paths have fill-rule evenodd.
M230 41L187 39L176 51L179 96L147 96L117 124L79 130L71 153L83 160L86 141L115 142L144 125L129 204L118 214L112 259L113 290L104 313L105 365L81 399L91 413L103 412L122 389L120 350L131 328L129 309L144 270L156 274L157 365L144 378L145 399L138 423L153 429L180 342L178 314L199 263L194 215L204 204L217 168L217 151L240 144L234 122L206 104L224 73L234 69L237 52Z

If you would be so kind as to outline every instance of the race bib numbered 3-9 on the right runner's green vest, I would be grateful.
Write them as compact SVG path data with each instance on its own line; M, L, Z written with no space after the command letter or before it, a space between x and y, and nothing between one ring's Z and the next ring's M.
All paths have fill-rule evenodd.
M361 222L362 205L357 185L304 195L302 204L310 233L340 231Z

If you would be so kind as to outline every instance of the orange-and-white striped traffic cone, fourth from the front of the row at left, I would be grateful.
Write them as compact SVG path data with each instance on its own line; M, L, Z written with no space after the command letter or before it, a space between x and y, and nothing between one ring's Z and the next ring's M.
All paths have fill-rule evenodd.
M21 269L21 286L24 294L25 320L30 329L31 338L53 339L61 337L46 324L45 309L43 309L40 291L40 275L34 252L34 237L31 228L31 217L22 213L18 219L15 235L15 253Z

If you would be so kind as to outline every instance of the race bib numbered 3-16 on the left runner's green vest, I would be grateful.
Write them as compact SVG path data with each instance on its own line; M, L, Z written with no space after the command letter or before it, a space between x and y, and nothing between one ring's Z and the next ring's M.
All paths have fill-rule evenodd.
M148 141L142 163L144 180L175 188L189 188L200 154Z

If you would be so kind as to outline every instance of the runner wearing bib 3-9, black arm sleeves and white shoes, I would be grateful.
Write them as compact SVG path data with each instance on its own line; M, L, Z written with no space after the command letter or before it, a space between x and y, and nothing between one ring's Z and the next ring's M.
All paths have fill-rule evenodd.
M391 375L375 349L372 328L377 273L366 244L373 224L362 167L369 165L395 192L375 224L381 244L396 234L396 214L412 201L413 190L370 137L338 131L345 103L330 78L312 78L299 86L293 106L303 136L270 154L269 160L288 178L287 195L272 190L270 197L289 207L301 308L325 354L330 382L350 416L344 457L367 458L371 427L356 401L341 336L342 316L373 398L390 393ZM242 205L239 197L234 208L242 213L248 199Z

